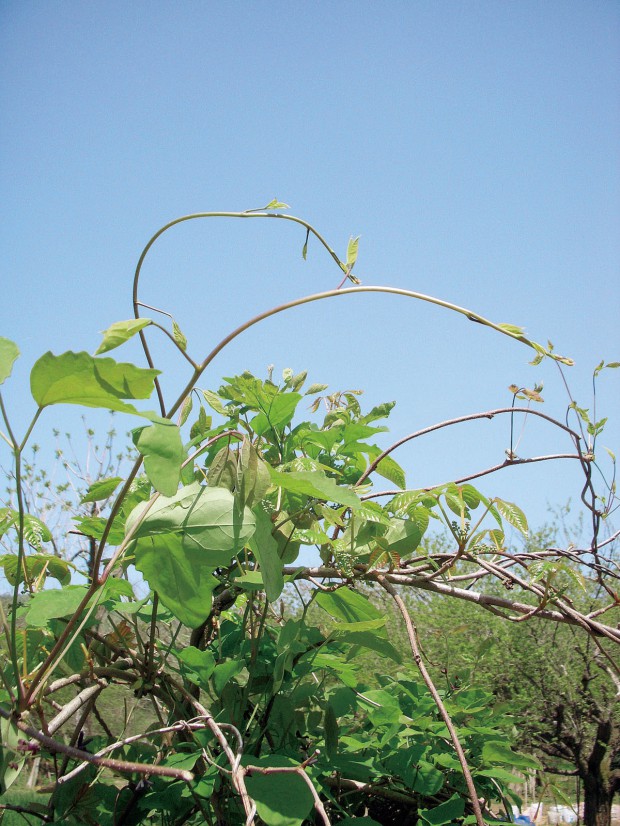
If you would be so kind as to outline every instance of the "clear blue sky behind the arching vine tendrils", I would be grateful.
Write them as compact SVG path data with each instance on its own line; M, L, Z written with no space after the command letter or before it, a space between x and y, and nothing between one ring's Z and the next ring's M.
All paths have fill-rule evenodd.
M159 226L274 197L341 255L361 235L364 284L551 339L576 360L568 376L584 407L592 368L620 358L616 0L3 0L0 78L0 334L23 354L5 388L18 422L39 355L93 352L98 331L132 316L133 269ZM256 312L337 285L316 244L302 260L303 241L280 221L184 224L147 258L143 300L177 317L200 358ZM164 340L155 351L172 393L187 373ZM563 418L557 370L530 358L438 308L347 296L254 328L203 384L305 368L333 390L363 388L369 407L396 399L399 437L543 381L545 411ZM598 404L615 424L602 441L620 452L620 371L607 373ZM48 412L39 441L76 421ZM396 458L411 487L447 481L501 462L507 428L466 425ZM519 446L567 450L535 423ZM576 499L579 480L564 462L480 487L539 524L548 504Z

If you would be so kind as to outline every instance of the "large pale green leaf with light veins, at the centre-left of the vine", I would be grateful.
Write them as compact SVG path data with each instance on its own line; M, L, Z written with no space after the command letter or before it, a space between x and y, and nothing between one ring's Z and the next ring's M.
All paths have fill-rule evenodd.
M141 503L134 508L127 519L127 533L140 521L147 507L147 503ZM140 543L144 537L180 535L183 549L200 550L204 564L216 568L228 564L254 530L254 514L248 508L238 508L230 491L202 487L194 482L174 496L160 496L132 538Z

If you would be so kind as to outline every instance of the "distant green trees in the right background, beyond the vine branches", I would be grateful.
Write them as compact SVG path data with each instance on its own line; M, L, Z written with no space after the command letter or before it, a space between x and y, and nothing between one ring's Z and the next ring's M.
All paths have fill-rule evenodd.
M527 553L556 543L557 530L533 536ZM441 542L439 543L441 544ZM607 565L617 568L613 545ZM519 558L519 554L515 554ZM554 577L565 598L595 616L605 604L596 582L578 568L556 564ZM495 588L497 592L497 588ZM491 691L498 701L520 709L519 744L534 749L550 774L579 778L586 826L609 826L613 797L620 791L620 680L615 646L584 635L571 625L537 619L487 615L465 602L430 596L415 601L422 647L434 673L448 684L470 684ZM620 607L607 622L620 620ZM471 645L471 639L476 644Z

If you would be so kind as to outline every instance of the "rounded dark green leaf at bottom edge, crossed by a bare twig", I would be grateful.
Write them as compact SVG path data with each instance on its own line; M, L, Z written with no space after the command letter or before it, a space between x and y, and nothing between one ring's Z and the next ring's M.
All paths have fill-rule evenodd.
M266 757L244 757L244 765L260 768L285 768L298 766L290 757L271 754ZM296 774L262 775L257 772L246 775L246 787L256 802L259 817L269 826L302 826L314 806L310 789Z

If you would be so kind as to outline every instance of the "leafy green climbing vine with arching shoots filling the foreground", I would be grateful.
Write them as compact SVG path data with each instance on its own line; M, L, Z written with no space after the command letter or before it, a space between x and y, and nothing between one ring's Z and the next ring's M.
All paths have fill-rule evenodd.
M270 212L285 208L274 200L238 217L286 219ZM339 275L359 284L351 274L359 238L341 261L310 225L292 220L306 230L304 258L313 235ZM537 359L568 362L520 327L410 291L372 289L430 300L533 347ZM528 536L518 506L467 482L408 490L393 455L399 443L376 443L394 402L365 413L360 390L324 395L326 385L306 387L306 372L290 368L279 382L270 370L266 379L245 372L217 390L199 388L230 337L200 361L168 313L171 333L139 318L139 307L136 298L136 318L104 331L94 356L48 352L35 363L38 410L21 441L2 405L13 461L11 501L0 509L0 565L13 588L0 611L2 790L38 755L53 781L49 822L482 824L478 798L503 805L512 771L538 763L514 748L514 708L451 680L447 667L433 682L394 586L486 604L493 588L470 589L493 577L516 582L530 600L524 607L495 596L501 610L555 621L574 618L571 589L587 572L549 556L520 561L517 579L506 531ZM137 333L145 341L147 331L164 332L194 370L167 406L158 370L101 357ZM0 339L0 383L18 353ZM515 398L541 401L538 388L514 387ZM158 413L132 404L155 391ZM131 433L129 469L76 473L84 484L68 506L73 524L59 534L42 509L27 507L29 480L46 482L23 454L39 414L56 404L149 422ZM587 411L573 410L595 438L605 420L590 427ZM589 473L583 451L580 461ZM375 490L380 479L399 492ZM608 510L612 500L613 492ZM447 549L434 543L435 524L449 533ZM71 557L70 533L82 542ZM302 551L316 564L294 565ZM393 608L407 647L388 621ZM475 647L481 634L471 636ZM122 702L104 713L103 698L119 696L111 692ZM137 702L148 713L134 737L127 731Z

